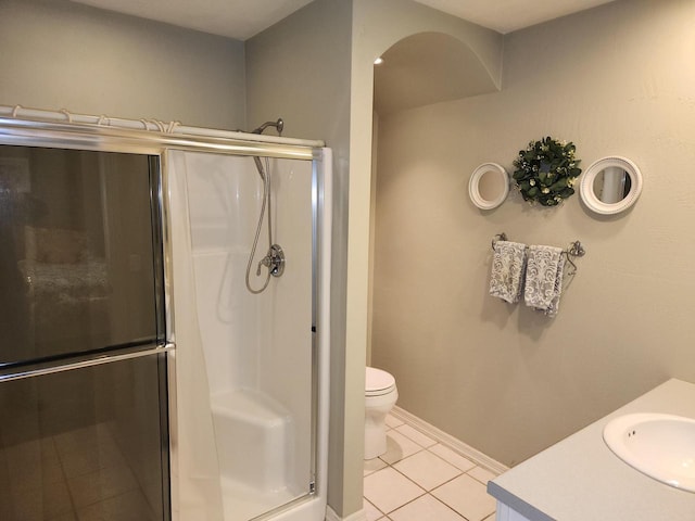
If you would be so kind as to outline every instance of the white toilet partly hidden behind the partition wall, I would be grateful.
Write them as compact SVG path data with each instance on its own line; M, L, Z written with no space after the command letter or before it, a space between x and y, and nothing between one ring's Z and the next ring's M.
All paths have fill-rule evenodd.
M365 459L387 452L387 415L399 399L395 378L374 367L365 374Z

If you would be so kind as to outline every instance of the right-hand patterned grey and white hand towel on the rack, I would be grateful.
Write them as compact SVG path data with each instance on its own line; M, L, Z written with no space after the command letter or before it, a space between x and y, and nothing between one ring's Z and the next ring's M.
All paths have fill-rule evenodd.
M563 292L564 252L555 246L529 246L523 300L527 306L557 315Z

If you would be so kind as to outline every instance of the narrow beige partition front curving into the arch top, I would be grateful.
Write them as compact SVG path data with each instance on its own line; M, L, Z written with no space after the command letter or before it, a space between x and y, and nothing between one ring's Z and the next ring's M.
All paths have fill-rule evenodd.
M345 479L362 488L364 378L368 339L369 231L374 60L392 45L422 31L448 34L478 54L493 79L502 72L502 36L409 0L353 0L350 100L348 292L345 308L345 439L359 439ZM357 441L353 444L356 446ZM350 492L345 488L346 492ZM351 495L353 505L362 500ZM344 513L348 513L345 511Z

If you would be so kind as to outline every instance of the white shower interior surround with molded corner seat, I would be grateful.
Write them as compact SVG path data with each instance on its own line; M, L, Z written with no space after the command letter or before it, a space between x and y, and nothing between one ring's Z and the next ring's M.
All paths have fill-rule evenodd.
M328 398L324 268L330 265L330 204L323 193L330 193L325 186L330 176L323 166L327 164L327 150L314 162L269 160L274 236L287 264L282 277L273 278L265 292L254 295L244 283L263 196L253 158L182 151L166 156L178 347L174 519L245 521L288 504L268 519L324 519ZM315 219L317 229L324 230L317 238L316 285ZM267 237L266 227L264 223L261 238ZM266 268L261 277L253 276L266 254L263 244L252 264L254 287L265 278ZM312 332L315 313L321 326L318 341ZM317 433L313 432L315 385Z

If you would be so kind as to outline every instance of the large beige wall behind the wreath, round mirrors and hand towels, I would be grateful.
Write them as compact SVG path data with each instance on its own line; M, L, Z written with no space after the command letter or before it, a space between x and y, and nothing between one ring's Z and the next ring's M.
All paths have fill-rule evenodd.
M498 93L380 119L372 363L400 406L511 466L669 377L695 381L694 55L695 3L618 1L506 36ZM470 203L476 166L513 171L546 135L584 168L632 158L636 205ZM555 319L488 295L502 231L584 244Z

